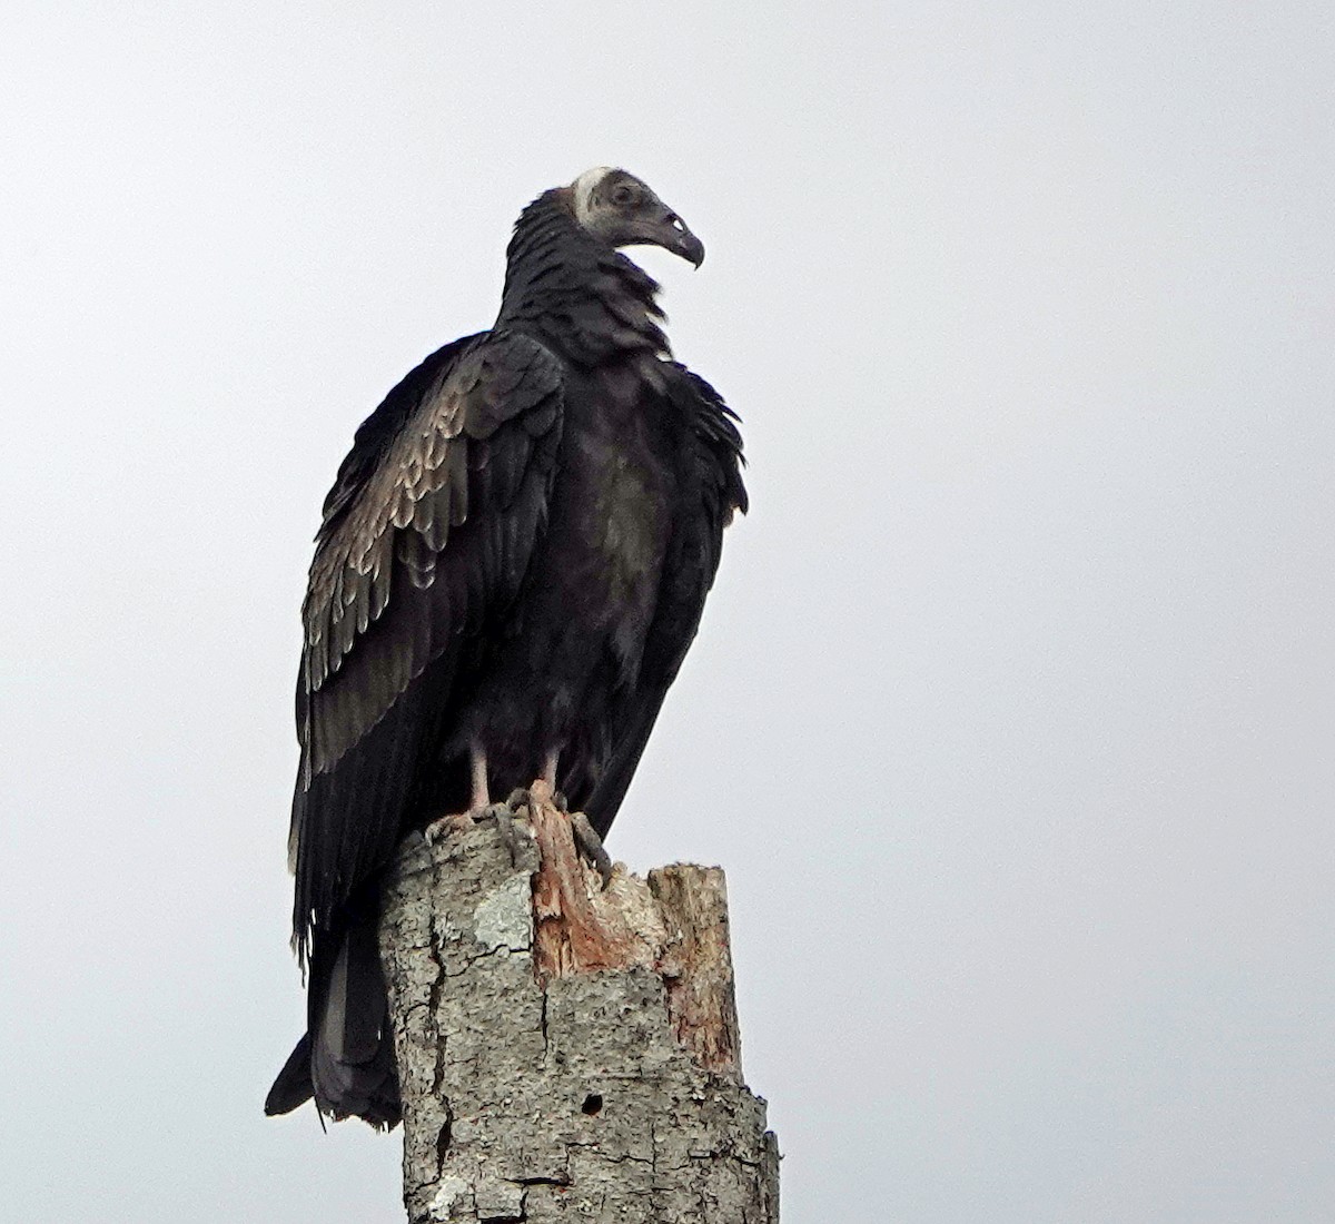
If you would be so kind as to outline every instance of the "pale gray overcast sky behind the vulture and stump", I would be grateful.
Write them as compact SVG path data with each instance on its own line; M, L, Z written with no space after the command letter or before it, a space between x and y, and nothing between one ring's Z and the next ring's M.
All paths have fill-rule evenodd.
M610 846L785 1221L1335 1216L1331 8L1009 8L9 0L7 1219L400 1219L260 1113L310 539L601 163L753 501Z

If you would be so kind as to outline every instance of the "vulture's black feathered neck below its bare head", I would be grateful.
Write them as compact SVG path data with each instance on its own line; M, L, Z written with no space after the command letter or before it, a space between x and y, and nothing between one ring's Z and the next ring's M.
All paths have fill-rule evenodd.
M579 364L666 355L658 283L586 232L567 195L547 191L519 215L497 328L530 332Z

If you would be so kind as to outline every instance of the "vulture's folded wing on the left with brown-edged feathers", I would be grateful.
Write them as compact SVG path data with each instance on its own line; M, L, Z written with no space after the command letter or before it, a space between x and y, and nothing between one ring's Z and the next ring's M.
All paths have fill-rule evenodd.
M291 834L303 949L392 853L454 662L514 599L545 522L561 363L503 331L437 358L378 411L398 418L368 435L378 459L354 447L311 565Z

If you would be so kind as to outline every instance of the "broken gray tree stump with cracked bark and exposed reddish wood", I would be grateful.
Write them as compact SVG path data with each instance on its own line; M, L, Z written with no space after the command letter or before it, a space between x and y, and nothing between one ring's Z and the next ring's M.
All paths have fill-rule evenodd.
M386 892L410 1221L777 1224L722 872L602 890L542 784L518 830L423 844Z

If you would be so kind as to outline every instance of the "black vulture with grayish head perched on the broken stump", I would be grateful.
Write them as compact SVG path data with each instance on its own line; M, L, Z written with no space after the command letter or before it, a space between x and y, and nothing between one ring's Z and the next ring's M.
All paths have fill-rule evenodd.
M705 248L598 167L515 224L495 326L429 356L324 501L290 841L307 1033L268 1099L399 1119L375 946L400 838L545 777L606 834L746 509L736 416L617 248Z

